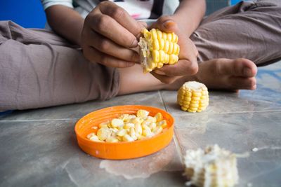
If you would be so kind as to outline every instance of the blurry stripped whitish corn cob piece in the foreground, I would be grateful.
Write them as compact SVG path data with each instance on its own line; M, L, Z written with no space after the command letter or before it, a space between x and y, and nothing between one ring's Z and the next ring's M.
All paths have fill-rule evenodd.
M204 151L188 150L184 159L188 186L231 187L238 183L236 155L218 145Z

